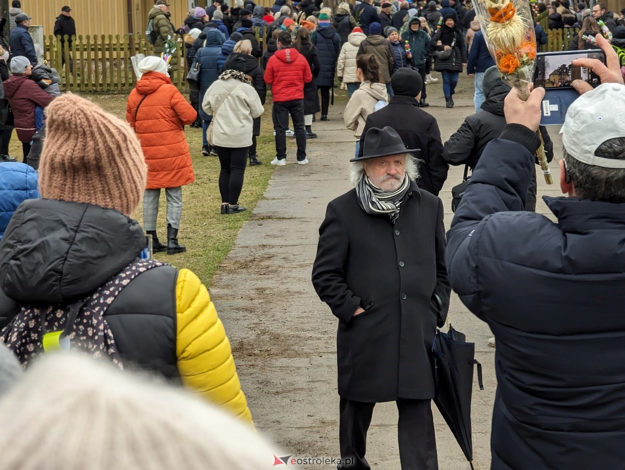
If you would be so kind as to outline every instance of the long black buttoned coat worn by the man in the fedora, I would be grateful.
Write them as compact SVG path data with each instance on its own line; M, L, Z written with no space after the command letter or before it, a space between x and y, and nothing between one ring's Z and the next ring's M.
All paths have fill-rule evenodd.
M449 306L442 217L441 200L414 183L394 224L364 212L355 189L327 205L312 284L340 320L342 398L434 398L432 341Z

